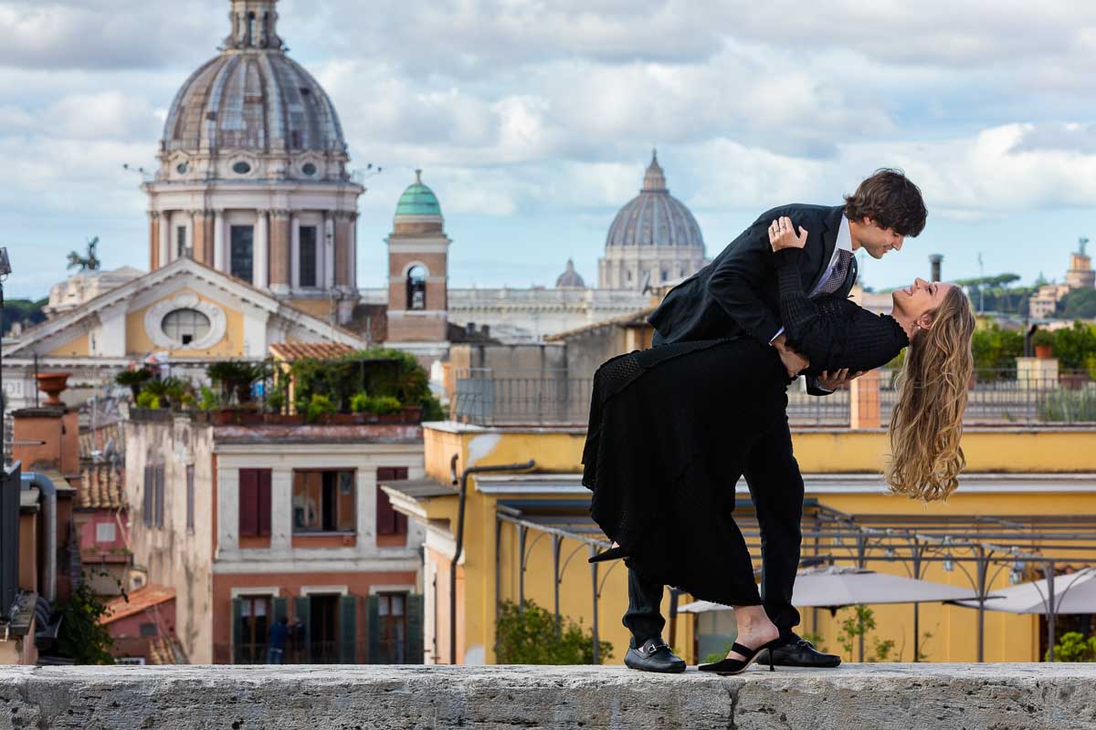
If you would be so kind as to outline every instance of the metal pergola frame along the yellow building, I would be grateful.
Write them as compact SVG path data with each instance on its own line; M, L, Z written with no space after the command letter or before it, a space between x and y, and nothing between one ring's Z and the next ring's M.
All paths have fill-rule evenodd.
M559 587L572 558L586 547L587 556L607 549L610 542L589 517L589 499L502 499L495 509L495 618L502 602L502 526L512 524L517 532L520 570L518 606L525 605L525 571L533 548L546 535L552 542L553 610L559 626ZM749 499L735 503L735 521L750 549L751 559L761 560L761 531ZM911 578L921 579L933 563L945 570L958 567L978 598L978 661L984 661L985 602L989 587L1002 570L1023 570L1038 566L1047 579L1050 609L1047 640L1050 660L1054 659L1054 573L1057 566L1096 566L1096 514L1027 514L1007 517L932 515L932 514L847 514L817 499L804 502L801 565L868 561L901 563ZM529 541L529 531L537 534ZM562 555L563 540L579 545ZM600 571L601 564L590 564L593 603L593 651L598 661L598 601L609 573L620 564L614 561ZM970 566L971 569L968 568ZM994 569L995 568L995 569ZM671 602L671 621L675 618ZM920 658L920 604L913 604L914 661ZM859 638L860 660L864 637Z

